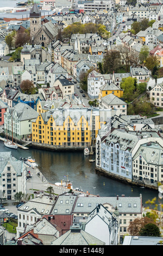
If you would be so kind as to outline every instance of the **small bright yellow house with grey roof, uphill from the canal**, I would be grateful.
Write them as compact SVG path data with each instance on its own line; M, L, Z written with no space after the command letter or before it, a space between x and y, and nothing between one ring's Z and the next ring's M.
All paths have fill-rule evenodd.
M123 90L118 88L114 83L105 83L103 86L99 87L98 99L100 100L101 97L104 97L110 93L114 94L117 97L123 96Z

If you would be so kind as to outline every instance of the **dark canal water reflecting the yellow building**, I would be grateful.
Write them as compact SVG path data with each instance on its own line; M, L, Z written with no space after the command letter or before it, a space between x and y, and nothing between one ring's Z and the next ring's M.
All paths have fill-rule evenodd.
M60 182L61 179L65 179L64 176L69 175L68 178L72 181L73 188L81 187L84 192L89 191L101 197L114 197L122 194L126 197L139 197L142 194L144 206L148 199L152 200L155 197L156 203L163 204L158 191L124 184L97 173L95 162L89 162L89 159L95 159L95 155L84 156L82 152L60 153L32 148L15 150L6 148L2 141L0 141L0 151L11 151L16 159L31 156L38 164L40 172L51 184Z

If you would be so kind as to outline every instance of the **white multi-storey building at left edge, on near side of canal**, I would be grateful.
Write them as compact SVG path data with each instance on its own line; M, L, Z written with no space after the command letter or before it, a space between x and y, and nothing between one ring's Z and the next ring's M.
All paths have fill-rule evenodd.
M1 152L0 163L2 199L15 200L16 193L26 194L26 169L23 161L15 159L11 152Z

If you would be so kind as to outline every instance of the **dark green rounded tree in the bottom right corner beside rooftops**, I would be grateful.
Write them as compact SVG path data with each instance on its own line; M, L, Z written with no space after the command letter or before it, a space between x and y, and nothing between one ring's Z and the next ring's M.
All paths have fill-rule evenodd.
M141 228L139 232L140 236L155 236L160 237L161 232L159 227L154 223L147 223L144 227Z

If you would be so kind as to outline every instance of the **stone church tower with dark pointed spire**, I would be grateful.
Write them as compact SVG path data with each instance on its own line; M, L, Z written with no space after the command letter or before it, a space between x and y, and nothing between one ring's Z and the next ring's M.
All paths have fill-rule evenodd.
M30 20L30 43L32 44L35 34L41 28L41 11L37 7L36 3L34 3L33 8L30 10L29 20Z

